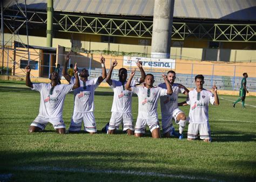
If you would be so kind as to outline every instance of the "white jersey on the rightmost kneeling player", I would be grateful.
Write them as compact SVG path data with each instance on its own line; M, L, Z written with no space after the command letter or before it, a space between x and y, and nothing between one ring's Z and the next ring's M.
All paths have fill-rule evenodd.
M209 101L214 103L214 94L203 89L197 92L196 88L188 93L187 103L190 104L190 123L203 124L208 122Z

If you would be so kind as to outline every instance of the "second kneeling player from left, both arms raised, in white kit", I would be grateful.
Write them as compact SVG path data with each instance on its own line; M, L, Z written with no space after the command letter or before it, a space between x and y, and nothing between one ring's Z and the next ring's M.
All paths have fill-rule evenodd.
M66 73L66 67L70 59L69 53L65 56L65 63L62 70L62 75L65 79L74 83L76 78ZM95 89L106 78L105 58L101 58L102 76L88 80L89 72L87 69L80 71L80 87L74 90L74 110L71 118L69 132L79 132L82 128L82 121L84 121L84 131L90 134L96 134L96 122L93 113L94 110L94 94Z

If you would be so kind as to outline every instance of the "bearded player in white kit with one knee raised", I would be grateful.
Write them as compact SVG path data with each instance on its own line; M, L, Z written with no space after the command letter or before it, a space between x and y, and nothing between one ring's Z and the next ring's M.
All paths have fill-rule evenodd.
M179 124L179 139L183 139L183 130L186 126L186 116L183 111L178 108L178 94L183 93L188 95L189 90L181 84L174 83L176 79L176 73L174 71L167 72L167 80L172 87L172 95L164 95L160 97L161 116L162 116L162 129L164 137L170 137L170 135L176 135L172 118ZM158 85L161 88L166 88L165 83ZM171 132L170 132L171 131Z

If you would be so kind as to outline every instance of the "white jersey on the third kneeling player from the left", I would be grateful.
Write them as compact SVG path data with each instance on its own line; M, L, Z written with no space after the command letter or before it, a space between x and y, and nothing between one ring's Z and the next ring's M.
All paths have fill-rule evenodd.
M132 92L125 89L122 82L112 80L111 88L114 92L114 99L111 112L130 113L132 111ZM136 86L136 81L131 81L131 87Z

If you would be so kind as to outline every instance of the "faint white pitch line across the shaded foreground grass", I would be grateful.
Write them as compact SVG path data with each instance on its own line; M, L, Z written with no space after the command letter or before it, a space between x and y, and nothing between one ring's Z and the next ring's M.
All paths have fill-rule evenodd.
M82 169L82 168L60 168L60 167L48 167L48 166L30 166L30 167L15 167L15 170L22 171L54 171L54 172L86 172L86 173L115 173L115 174L131 174L136 176L153 176L153 177L170 177L170 178L181 178L190 180L205 180L205 181L219 181L216 179L208 179L202 177L194 177L187 175L174 175L174 174L162 174L156 172L142 172L142 171L119 171L119 170L93 170L93 169Z

